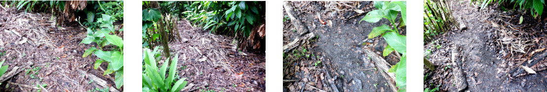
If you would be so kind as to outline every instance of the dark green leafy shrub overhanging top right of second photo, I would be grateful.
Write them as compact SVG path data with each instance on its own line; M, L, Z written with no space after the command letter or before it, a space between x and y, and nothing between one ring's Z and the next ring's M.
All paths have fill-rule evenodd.
M258 28L265 20L263 1L195 1L183 5L184 18L197 27L210 30L210 33L234 35L240 47L245 47L248 39L254 42L251 37L254 37L252 34L256 31L253 28Z

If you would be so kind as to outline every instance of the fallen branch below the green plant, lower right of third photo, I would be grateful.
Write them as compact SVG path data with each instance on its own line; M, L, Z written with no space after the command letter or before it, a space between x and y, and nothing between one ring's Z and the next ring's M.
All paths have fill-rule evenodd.
M392 91L397 91L397 87L395 86L394 80L395 80L395 74L389 73L388 70L391 68L391 65L386 62L386 60L383 60L383 58L380 55L376 55L374 51L371 51L369 49L363 49L364 53L370 57L370 60L373 60L376 63L376 67L380 69L380 74L386 80L389 80L387 83L389 84L389 87L392 89Z

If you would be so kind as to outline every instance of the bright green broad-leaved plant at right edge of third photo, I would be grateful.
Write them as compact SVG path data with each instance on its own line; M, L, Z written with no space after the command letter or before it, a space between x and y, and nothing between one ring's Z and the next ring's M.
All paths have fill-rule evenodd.
M399 87L399 91L406 91L406 36L399 35L399 31L395 25L399 12L401 14L400 24L404 25L404 22L406 21L406 2L375 1L374 6L377 9L368 12L361 21L376 23L380 21L380 19L386 18L391 22L391 26L384 24L380 27L373 28L368 37L374 38L381 35L384 40L386 40L387 47L383 50L383 56L387 56L393 51L403 54L400 61L393 65L388 72L395 73L395 83L397 84L397 87ZM392 27L394 29L392 29Z

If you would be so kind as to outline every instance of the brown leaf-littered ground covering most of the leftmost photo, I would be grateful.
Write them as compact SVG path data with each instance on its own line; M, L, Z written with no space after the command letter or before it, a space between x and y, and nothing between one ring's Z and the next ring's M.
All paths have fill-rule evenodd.
M0 90L91 91L105 88L96 83L99 80L90 80L90 76L99 77L108 86L115 87L114 74L103 76L106 63L101 65L102 69L95 70L93 64L98 58L94 55L82 57L85 49L98 47L78 44L86 35L86 30L78 23L65 23L66 27L57 28L55 19L50 19L51 14L25 13L12 8L0 9L0 16L0 60L5 61L3 65L9 65L8 72L15 67L21 70L2 82ZM111 47L105 47L108 48Z

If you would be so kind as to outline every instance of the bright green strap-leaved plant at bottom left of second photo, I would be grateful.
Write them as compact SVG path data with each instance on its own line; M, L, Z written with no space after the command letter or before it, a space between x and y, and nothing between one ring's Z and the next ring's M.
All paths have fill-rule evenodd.
M174 80L176 80L174 75L176 75L177 71L178 54L174 56L173 60L171 60L171 65L169 65L170 59L167 58L167 61L165 61L164 64L161 65L161 68L159 68L159 72L158 67L156 66L156 53L146 48L144 49L143 54L145 63L144 66L146 69L142 74L142 91L173 92L180 91L186 86L188 82L184 81L186 79L185 77L180 78L180 80L174 82ZM168 75L166 75L167 70L169 70Z

